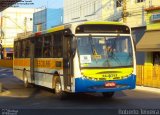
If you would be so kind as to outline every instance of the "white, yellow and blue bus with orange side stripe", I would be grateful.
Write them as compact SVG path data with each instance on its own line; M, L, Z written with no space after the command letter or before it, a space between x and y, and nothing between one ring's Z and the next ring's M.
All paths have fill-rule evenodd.
M131 29L120 22L64 24L14 41L14 76L66 93L134 89L136 56Z

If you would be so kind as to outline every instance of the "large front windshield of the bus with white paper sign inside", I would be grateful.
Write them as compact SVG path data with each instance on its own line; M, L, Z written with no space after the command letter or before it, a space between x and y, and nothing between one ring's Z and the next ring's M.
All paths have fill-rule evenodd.
M79 36L77 42L82 68L133 66L130 36Z

